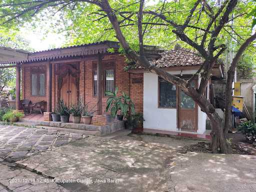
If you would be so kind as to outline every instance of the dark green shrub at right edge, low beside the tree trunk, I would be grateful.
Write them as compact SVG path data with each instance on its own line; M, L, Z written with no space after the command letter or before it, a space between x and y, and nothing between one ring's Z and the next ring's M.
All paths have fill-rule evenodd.
M251 142L256 141L256 123L250 120L245 121L239 125L238 130L246 136L247 140Z

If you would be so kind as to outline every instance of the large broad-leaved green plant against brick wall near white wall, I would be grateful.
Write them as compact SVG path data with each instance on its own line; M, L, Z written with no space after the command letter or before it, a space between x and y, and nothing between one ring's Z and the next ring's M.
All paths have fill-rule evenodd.
M120 113L124 117L127 117L128 111L130 109L130 113L134 114L135 108L130 97L125 92L122 92L122 95L117 96L117 92L118 92L118 87L115 87L114 92L105 91L105 94L109 96L108 99L106 100L105 112L110 110L111 116L115 117L116 113L120 111Z

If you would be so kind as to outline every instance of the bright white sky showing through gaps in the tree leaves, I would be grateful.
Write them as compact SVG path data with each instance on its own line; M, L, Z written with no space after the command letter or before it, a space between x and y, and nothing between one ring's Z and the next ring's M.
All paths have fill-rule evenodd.
M152 5L158 0L147 0L146 5ZM40 28L32 29L29 24L20 29L20 34L28 42L34 51L47 50L50 48L62 47L68 39L63 33L55 33L49 30L50 26L45 25Z

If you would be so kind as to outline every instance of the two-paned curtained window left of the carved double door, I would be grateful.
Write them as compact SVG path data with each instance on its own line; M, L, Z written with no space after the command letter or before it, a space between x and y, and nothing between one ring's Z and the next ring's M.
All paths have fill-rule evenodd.
M45 69L44 67L31 68L31 95L45 96Z

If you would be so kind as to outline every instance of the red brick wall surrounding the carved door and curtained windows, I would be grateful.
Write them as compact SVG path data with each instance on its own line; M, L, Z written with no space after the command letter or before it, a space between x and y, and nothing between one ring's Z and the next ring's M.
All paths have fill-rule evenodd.
M125 72L123 67L126 65L125 58L119 54L105 55L103 58L103 64L107 61L113 61L115 63L115 85L118 86L118 93L121 94L122 91L130 95L131 99L135 104L135 110L137 112L143 111L143 74L134 74ZM96 96L93 96L92 91L92 63L96 60L85 60L79 62L79 97L84 103L89 102L89 106L96 104ZM25 99L30 99L32 102L37 102L41 100L46 101L47 87L45 89L45 96L32 96L31 95L31 74L30 67L36 65L45 65L46 62L41 63L31 63L22 65L22 97ZM55 75L56 64L52 64L52 109L57 101L57 77ZM45 79L46 79L45 73ZM133 78L141 78L142 81L139 83L132 83ZM46 82L45 82L46 85ZM102 98L102 112L104 113L107 97ZM46 109L46 106L45 106Z

